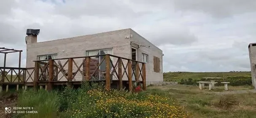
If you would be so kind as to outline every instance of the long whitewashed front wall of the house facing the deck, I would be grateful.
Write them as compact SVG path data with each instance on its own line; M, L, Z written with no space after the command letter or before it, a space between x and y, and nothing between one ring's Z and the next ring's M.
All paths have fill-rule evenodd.
M124 29L38 43L31 43L30 39L32 38L27 38L26 67L34 67L35 64L32 61L37 60L39 55L57 54L57 58L86 56L86 51L105 48L113 48L113 55L129 58L131 55L130 39L125 38L129 36L130 29ZM82 59L74 60L78 66L82 62ZM113 60L115 64L117 58ZM62 64L65 64L65 61L62 60ZM67 69L67 65L65 69ZM75 70L77 68L73 64L73 71ZM81 79L81 74L78 72L78 75L75 77ZM66 78L63 77L61 80L66 80Z

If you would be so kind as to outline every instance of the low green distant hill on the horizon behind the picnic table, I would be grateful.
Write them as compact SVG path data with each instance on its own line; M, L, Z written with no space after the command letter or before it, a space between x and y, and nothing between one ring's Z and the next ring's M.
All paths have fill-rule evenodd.
M234 76L251 76L251 72L164 72L164 81L180 81L181 79L227 78Z

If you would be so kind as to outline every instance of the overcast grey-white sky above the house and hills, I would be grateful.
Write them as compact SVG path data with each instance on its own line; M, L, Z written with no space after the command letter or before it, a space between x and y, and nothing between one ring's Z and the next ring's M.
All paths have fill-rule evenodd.
M164 72L250 71L256 0L2 0L0 47L22 49L22 67L28 28L39 42L132 28L162 49Z

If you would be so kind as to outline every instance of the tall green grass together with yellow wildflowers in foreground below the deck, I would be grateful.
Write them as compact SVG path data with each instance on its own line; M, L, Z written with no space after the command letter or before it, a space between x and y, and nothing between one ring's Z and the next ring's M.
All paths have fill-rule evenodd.
M88 83L58 92L31 89L19 91L13 107L33 107L37 113L11 115L12 118L189 118L183 106L156 91L107 91L104 86Z

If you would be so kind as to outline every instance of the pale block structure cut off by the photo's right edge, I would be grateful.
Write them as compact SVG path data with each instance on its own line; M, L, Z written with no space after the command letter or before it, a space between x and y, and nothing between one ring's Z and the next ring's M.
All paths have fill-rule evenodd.
M253 44L255 45L256 43L250 43L249 44L249 58L250 58L250 63L251 63L251 79L252 79L252 83L253 86L256 87L256 46L253 46Z

